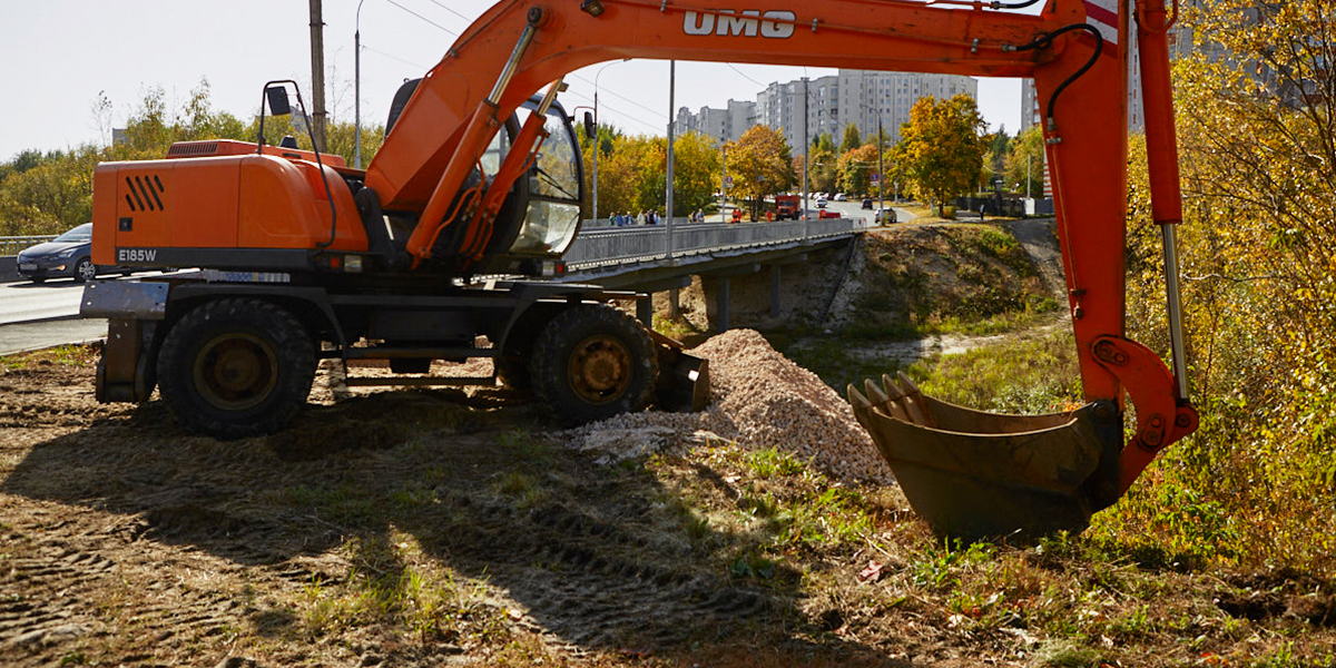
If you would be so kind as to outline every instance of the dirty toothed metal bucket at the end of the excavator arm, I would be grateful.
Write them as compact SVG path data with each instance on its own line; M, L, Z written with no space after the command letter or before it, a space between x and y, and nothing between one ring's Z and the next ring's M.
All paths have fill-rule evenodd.
M939 536L1031 540L1079 532L1117 500L1122 420L1094 402L1047 415L966 409L906 377L848 386L854 414L914 512Z

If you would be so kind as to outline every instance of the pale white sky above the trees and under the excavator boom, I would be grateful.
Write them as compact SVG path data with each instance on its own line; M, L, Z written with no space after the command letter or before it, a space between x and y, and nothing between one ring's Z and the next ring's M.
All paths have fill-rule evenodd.
M362 118L383 123L403 79L436 64L456 35L492 3L481 0L362 0ZM144 94L160 87L175 108L207 80L214 108L247 116L271 79L302 81L310 100L307 0L0 0L0 160L19 151L106 142L94 114L99 95L124 126ZM358 0L325 0L327 104L353 119L353 33ZM592 104L595 73L568 77L566 108ZM679 63L676 106L723 107L752 100L771 81L832 69ZM599 76L601 120L631 134L664 134L668 63L632 60ZM1021 119L1017 79L982 79L979 107L995 130Z

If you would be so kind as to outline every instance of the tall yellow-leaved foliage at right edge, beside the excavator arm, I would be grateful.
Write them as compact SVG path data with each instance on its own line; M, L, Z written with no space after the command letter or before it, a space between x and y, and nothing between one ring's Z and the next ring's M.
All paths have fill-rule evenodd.
M1196 434L1097 532L1248 566L1336 545L1336 23L1329 0L1206 0L1174 63ZM1128 330L1169 347L1145 138L1129 162ZM1197 548L1193 548L1197 549ZM1304 663L1305 659L1296 657Z

